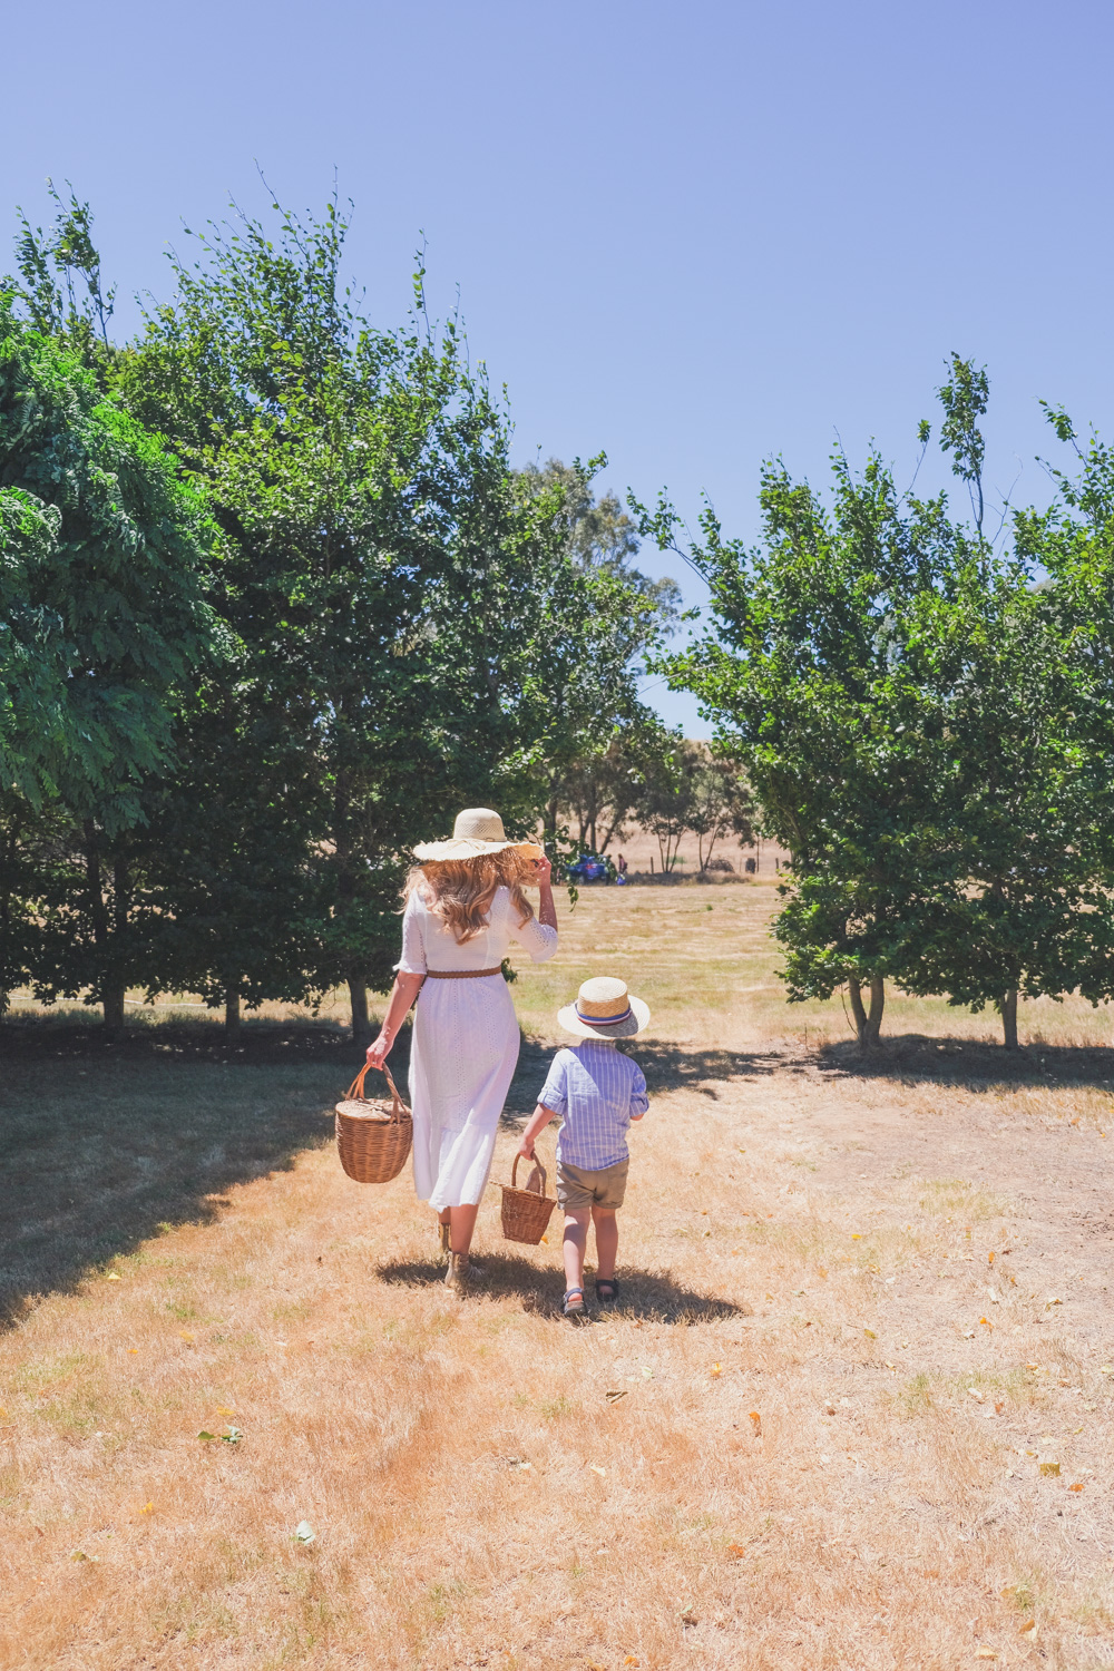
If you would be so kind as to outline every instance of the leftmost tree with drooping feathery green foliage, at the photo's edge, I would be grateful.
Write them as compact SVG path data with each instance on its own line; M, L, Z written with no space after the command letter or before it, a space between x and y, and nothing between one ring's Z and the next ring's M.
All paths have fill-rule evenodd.
M0 302L0 988L92 991L122 1023L137 961L122 844L214 653L209 528L175 461L75 354ZM48 842L50 862L32 856Z

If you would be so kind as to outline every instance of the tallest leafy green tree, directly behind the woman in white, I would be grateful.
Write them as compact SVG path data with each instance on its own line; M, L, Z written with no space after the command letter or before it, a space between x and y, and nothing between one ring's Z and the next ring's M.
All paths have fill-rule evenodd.
M463 802L533 825L543 762L625 712L630 587L575 558L565 483L511 473L506 414L456 323L429 326L423 274L408 329L374 331L344 291L336 206L276 212L277 234L242 219L175 257L177 299L120 369L205 483L237 647L187 727L184 780L222 809L210 846L190 792L169 804L167 851L189 847L210 887L187 964L230 1019L267 993L257 899L292 887L272 973L284 993L297 971L311 993L346 981L362 1036L413 844ZM237 973L256 942L259 969Z

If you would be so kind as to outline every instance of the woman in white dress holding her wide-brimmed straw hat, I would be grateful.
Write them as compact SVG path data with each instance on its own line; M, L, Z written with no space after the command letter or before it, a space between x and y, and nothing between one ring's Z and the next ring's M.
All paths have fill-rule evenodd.
M414 1186L438 1211L449 1255L446 1287L468 1290L476 1227L503 1103L518 1063L518 1021L503 979L511 941L534 962L556 951L549 861L534 842L509 842L488 807L461 812L453 839L414 849L406 882L403 956L382 1031L367 1051L381 1068L414 998L409 1088ZM541 891L538 917L523 886Z

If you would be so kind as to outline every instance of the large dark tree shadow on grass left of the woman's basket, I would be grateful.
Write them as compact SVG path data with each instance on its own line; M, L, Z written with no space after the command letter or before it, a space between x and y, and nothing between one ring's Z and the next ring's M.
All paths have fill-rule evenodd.
M162 1228L214 1222L225 1190L331 1141L339 1066L5 1056L0 1330Z

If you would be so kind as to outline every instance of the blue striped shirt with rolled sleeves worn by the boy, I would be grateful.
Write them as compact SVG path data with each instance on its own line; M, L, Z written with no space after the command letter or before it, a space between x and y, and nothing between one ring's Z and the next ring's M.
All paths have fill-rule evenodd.
M650 1108L641 1068L621 1056L613 1039L585 1039L560 1049L538 1101L563 1116L558 1160L585 1171L630 1160L631 1115Z

